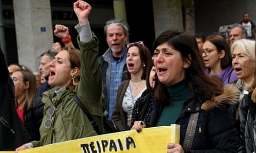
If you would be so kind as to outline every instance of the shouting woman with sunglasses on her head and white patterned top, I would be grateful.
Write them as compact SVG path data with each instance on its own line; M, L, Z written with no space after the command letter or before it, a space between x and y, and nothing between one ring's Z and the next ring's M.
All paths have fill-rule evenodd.
M152 64L150 51L142 41L130 43L127 48L127 80L117 89L116 105L112 114L112 120L121 131L130 129L133 106L146 90L146 74Z

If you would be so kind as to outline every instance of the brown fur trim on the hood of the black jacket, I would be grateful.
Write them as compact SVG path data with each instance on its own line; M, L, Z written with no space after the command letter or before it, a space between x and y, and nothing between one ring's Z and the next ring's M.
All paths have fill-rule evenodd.
M239 90L235 84L226 84L224 86L224 92L221 95L214 97L211 100L206 100L202 105L201 109L209 111L214 107L219 107L223 104L237 104L239 100Z

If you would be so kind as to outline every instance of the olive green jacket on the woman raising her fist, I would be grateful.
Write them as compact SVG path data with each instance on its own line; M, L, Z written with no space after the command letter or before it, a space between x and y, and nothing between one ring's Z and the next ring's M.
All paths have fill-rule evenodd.
M75 103L74 92L77 92L79 99L90 111L100 131L103 132L104 96L102 94L101 64L98 60L99 47L97 44L99 41L94 34L88 43L80 42L79 36L77 39L81 53L80 82L75 91L66 89L60 95L56 95L57 87L55 87L43 93L42 101L45 106L40 127L41 140L32 141L34 147L97 135L83 110ZM55 106L56 111L52 115L52 125L47 129L45 121L50 118L47 111L52 106Z

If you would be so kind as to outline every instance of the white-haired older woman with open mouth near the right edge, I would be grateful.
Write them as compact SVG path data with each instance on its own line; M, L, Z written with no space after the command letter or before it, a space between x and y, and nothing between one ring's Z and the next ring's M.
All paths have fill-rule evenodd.
M238 134L240 132L239 126L239 105L244 97L244 93L248 93L248 86L254 80L255 71L255 41L251 39L238 39L232 43L231 54L232 54L232 66L236 72L238 80L234 83L240 90L239 103L232 105L230 110L235 117Z

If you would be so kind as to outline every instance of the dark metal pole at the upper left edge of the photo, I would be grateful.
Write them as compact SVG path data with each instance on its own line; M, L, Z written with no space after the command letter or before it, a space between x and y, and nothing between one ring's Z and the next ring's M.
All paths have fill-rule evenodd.
M6 64L7 64L6 38L4 37L2 0L0 0L0 47L3 51L4 58L6 59Z

